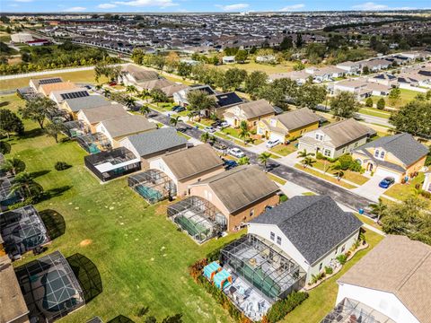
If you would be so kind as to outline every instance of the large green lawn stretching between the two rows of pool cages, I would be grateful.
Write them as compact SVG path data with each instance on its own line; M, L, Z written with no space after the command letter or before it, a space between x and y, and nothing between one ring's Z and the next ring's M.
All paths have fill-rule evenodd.
M11 96L12 97L12 96ZM6 108L16 109L17 100ZM126 179L101 185L84 168L84 150L75 142L55 144L38 126L25 121L26 136L10 141L12 155L27 164L51 198L36 205L62 214L66 232L49 245L66 257L81 253L98 267L103 292L63 322L85 322L94 315L108 321L119 314L136 322L136 310L149 306L158 319L182 313L185 322L227 322L229 315L188 274L188 266L208 251L233 240L232 234L198 246L166 220L166 203L147 205ZM63 171L54 163L73 165ZM33 259L25 257L20 266Z

